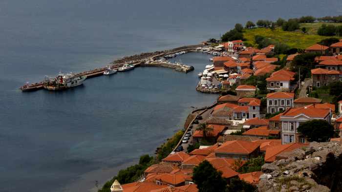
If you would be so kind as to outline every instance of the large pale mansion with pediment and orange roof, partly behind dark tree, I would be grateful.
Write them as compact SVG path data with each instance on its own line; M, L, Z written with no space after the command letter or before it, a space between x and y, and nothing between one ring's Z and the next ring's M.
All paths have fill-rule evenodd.
M281 123L281 141L287 143L307 143L297 130L300 124L320 119L331 123L331 109L311 107L289 108L280 116Z

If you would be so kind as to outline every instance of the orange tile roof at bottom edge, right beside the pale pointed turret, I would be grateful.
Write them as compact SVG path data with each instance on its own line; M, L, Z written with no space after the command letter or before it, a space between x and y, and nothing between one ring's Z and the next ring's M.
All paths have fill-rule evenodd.
M166 185L157 185L152 182L134 182L121 185L124 192L150 192L152 190L166 188Z

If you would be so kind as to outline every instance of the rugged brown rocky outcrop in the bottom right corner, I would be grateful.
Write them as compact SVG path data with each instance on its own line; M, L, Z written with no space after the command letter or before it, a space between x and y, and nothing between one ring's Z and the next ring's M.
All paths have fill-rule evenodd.
M313 142L281 155L262 166L259 192L341 192L342 146L340 142Z

